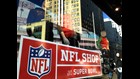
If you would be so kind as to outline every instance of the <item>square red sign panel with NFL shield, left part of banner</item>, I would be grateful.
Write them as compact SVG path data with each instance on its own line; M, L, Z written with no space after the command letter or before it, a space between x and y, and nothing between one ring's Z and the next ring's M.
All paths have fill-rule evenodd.
M55 79L56 44L21 36L17 79Z

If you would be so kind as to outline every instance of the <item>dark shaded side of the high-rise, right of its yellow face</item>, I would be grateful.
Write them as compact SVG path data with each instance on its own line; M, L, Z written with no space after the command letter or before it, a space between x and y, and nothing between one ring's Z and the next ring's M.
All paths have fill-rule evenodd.
M101 30L104 29L102 10L92 0L81 0L81 13L82 27L92 32L95 28L96 34L100 36Z

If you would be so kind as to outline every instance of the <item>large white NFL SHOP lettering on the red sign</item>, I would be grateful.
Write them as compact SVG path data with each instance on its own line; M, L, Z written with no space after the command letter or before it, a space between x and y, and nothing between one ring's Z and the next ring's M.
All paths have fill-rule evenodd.
M89 53L82 53L80 57L82 57L82 61L80 61L78 52L61 50L61 61L98 63L99 60L98 55Z

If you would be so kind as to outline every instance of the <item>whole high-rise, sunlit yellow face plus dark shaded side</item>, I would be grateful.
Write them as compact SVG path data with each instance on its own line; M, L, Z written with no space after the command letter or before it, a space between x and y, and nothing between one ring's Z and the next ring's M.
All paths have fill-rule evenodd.
M95 28L100 35L104 29L102 10L91 0L47 0L47 4L47 19L53 23L79 33L82 28L91 32Z

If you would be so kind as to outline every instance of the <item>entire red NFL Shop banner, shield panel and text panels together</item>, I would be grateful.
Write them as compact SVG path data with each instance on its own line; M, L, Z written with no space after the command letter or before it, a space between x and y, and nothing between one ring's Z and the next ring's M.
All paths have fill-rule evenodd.
M21 36L17 79L81 79L101 76L100 51Z

